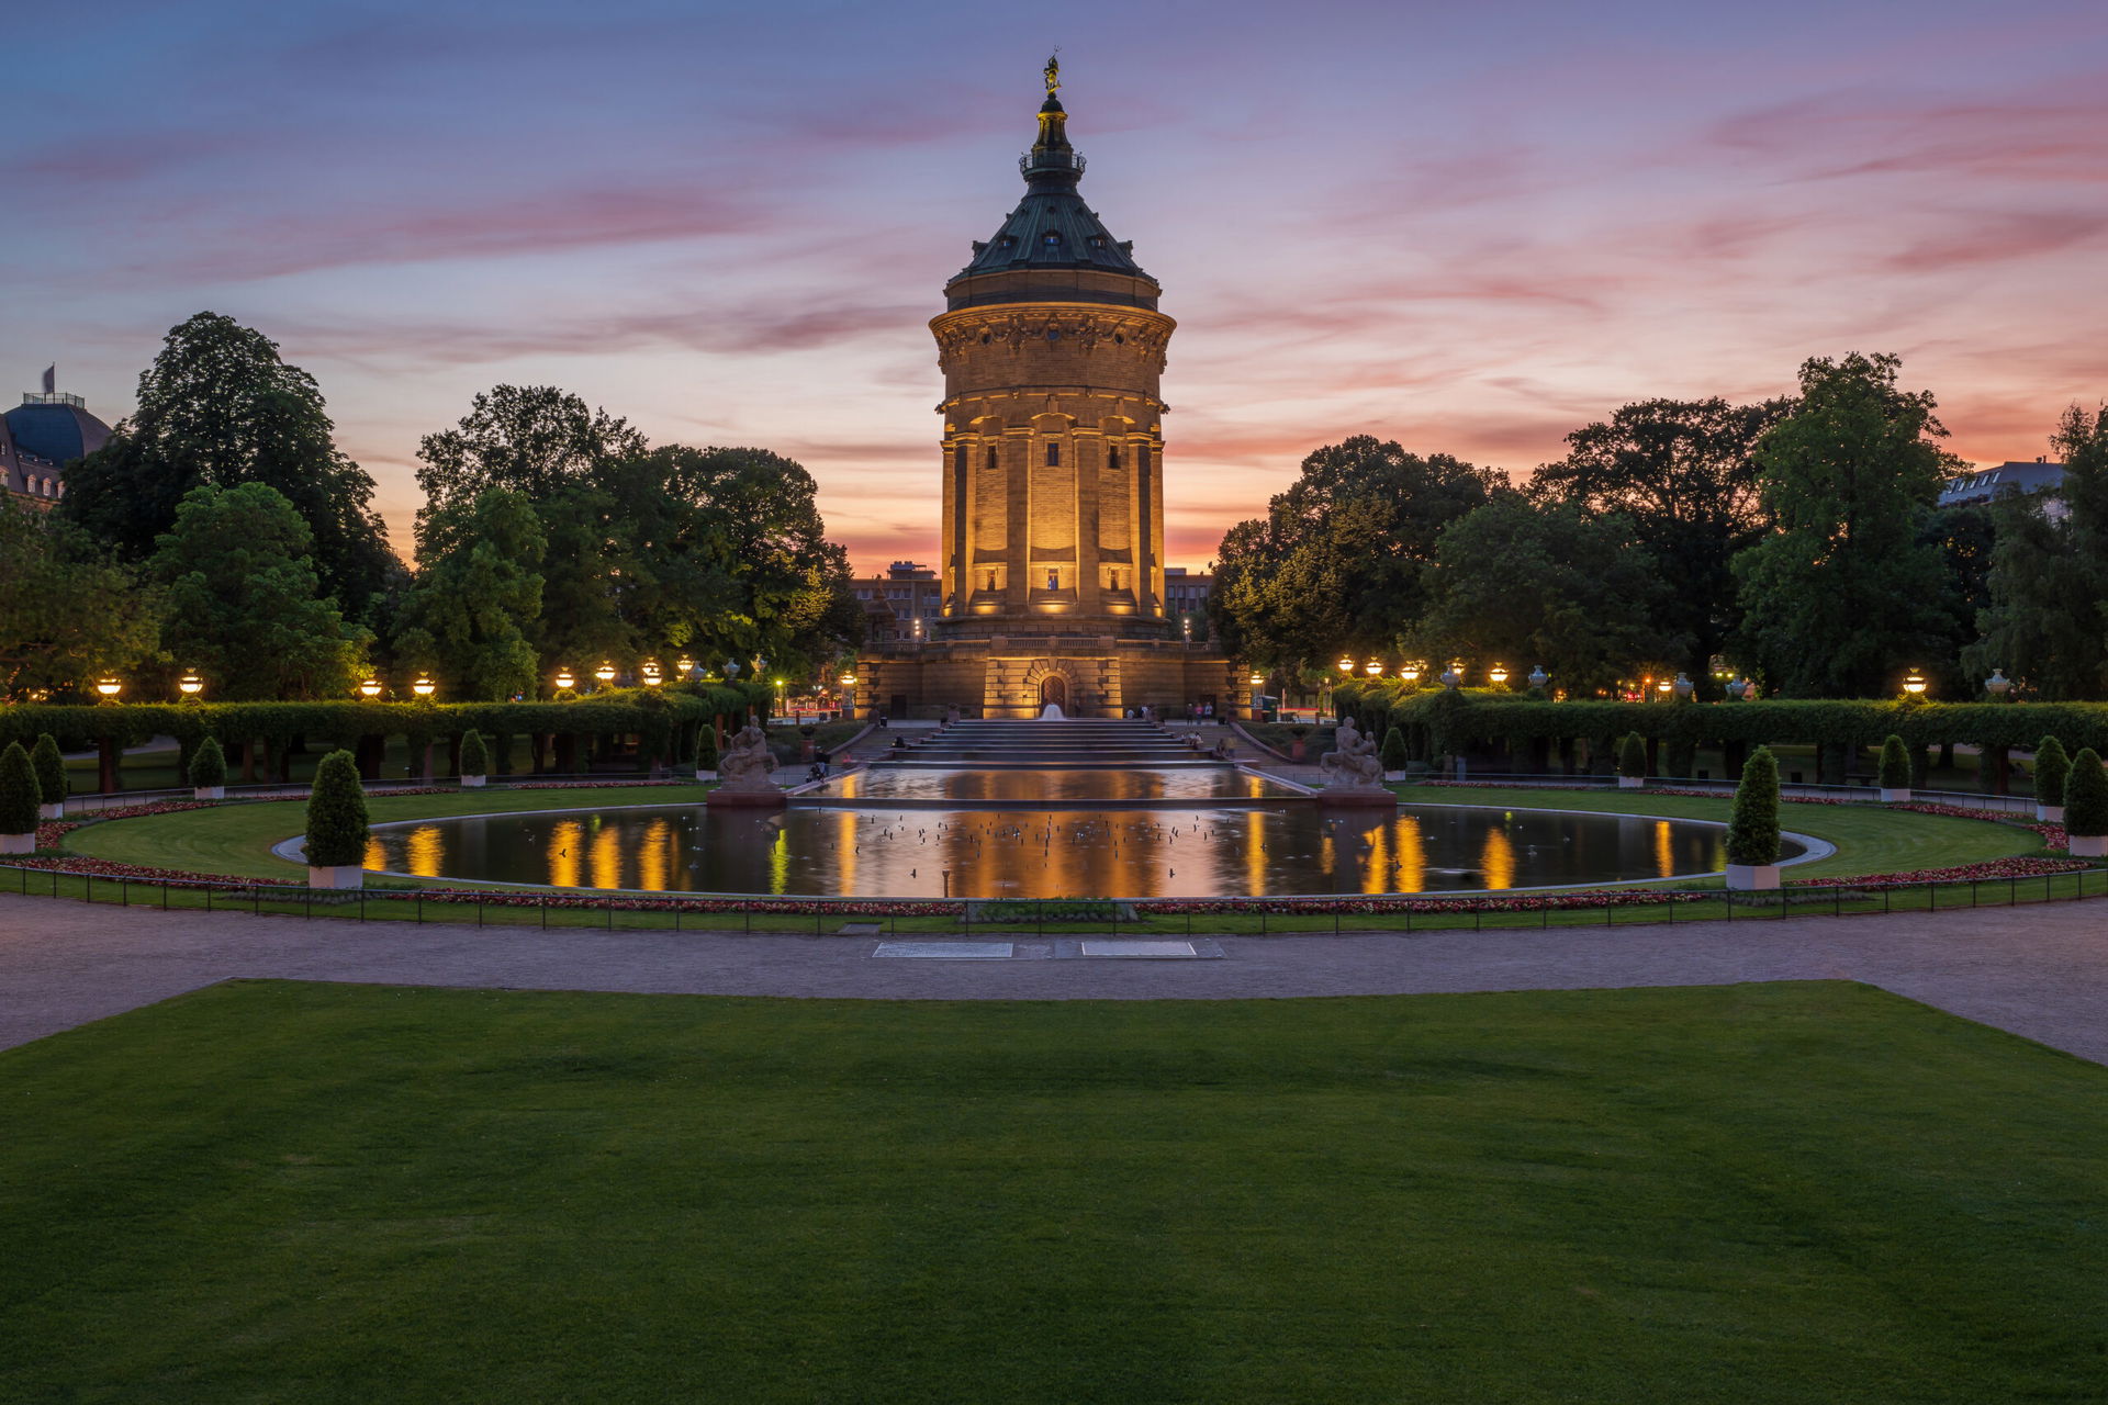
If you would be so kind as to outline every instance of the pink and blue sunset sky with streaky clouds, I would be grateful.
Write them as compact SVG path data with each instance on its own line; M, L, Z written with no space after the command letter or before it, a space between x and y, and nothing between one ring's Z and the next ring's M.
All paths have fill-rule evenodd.
M942 284L1060 44L1178 318L1172 562L1309 449L1511 472L1885 350L1967 459L2108 396L2108 4L99 4L8 44L0 390L110 421L211 308L314 373L409 546L417 438L557 383L936 548Z

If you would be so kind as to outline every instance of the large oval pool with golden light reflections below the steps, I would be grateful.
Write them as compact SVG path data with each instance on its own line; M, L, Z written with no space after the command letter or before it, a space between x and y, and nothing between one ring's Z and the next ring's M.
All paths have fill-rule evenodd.
M700 805L379 826L367 868L662 893L1212 897L1427 893L1718 872L1718 826L1465 807ZM1798 847L1788 843L1788 857Z

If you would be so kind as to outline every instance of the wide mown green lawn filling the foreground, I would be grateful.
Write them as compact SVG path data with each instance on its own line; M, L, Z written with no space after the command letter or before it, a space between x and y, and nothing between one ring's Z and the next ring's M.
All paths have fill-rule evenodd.
M8 1401L2108 1392L2108 1070L1863 986L242 982L0 1089Z

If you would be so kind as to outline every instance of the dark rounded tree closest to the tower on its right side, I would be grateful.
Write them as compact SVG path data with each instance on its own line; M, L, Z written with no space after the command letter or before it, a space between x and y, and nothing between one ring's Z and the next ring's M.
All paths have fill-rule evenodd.
M1368 434L1313 451L1265 518L1223 537L1208 600L1214 636L1267 670L1389 649L1425 609L1436 537L1505 484L1497 470L1446 453L1423 459Z

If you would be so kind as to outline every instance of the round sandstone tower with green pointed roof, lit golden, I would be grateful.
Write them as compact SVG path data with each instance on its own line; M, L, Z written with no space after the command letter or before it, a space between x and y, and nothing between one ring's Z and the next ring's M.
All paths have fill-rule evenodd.
M944 284L942 615L858 661L864 710L1121 716L1229 704L1227 659L1164 609L1157 280L1084 204L1048 99L1024 200Z

